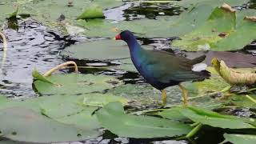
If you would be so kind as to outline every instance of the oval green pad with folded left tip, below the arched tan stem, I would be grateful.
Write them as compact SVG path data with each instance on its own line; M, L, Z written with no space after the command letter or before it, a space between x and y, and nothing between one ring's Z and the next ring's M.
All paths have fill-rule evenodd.
M34 87L40 94L86 94L122 84L117 78L94 74L54 74L47 78L54 85L40 80L34 82Z

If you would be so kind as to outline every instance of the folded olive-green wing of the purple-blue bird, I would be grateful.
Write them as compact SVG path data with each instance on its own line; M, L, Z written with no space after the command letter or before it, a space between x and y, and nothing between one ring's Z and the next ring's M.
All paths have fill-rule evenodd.
M194 64L202 62L204 57L190 60L160 50L146 50L146 57L146 70L160 82L185 82L202 78L192 68Z

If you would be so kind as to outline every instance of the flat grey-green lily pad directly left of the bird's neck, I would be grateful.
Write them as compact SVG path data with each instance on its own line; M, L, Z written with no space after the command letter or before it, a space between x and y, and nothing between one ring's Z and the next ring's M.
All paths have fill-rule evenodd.
M114 40L78 43L66 47L60 55L69 59L101 61L130 58L129 48L126 43Z

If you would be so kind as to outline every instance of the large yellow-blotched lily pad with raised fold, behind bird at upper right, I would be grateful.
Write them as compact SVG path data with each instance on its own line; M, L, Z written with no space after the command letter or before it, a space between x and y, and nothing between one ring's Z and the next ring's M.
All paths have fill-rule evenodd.
M250 33L250 30L256 30L256 22L238 19L243 22L237 22L234 11L216 8L201 27L182 36L182 40L176 40L172 45L181 50L194 51L242 49L254 41L256 34Z

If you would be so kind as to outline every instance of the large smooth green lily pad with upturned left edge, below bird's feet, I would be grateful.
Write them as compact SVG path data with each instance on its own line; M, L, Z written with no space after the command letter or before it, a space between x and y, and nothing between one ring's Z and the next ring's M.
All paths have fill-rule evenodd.
M120 137L165 138L187 134L191 130L190 126L179 122L125 114L120 102L110 102L96 115L102 126Z

